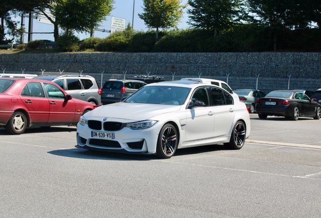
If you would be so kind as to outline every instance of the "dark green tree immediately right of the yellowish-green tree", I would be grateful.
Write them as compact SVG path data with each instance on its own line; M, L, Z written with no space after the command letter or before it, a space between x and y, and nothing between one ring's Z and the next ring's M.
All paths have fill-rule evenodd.
M188 0L191 9L187 10L188 24L200 29L214 31L230 28L245 19L246 12L242 0Z

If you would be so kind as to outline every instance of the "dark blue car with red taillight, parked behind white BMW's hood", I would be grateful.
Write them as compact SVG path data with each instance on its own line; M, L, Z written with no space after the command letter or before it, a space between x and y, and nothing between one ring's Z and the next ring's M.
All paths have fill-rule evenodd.
M119 102L144 85L147 83L138 80L108 80L100 89L101 103L104 105Z

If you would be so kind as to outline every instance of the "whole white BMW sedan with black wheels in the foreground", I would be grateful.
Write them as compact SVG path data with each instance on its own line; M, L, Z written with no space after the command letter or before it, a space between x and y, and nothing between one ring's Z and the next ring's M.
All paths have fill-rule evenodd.
M240 149L249 134L243 102L221 87L179 80L145 85L86 113L77 125L77 147L170 158L176 149L201 145Z

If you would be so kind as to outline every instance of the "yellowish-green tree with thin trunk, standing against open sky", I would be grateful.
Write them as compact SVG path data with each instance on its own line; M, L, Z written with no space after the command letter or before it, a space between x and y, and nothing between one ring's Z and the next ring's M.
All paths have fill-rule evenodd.
M138 14L149 28L156 28L156 40L159 28L177 27L183 17L183 9L187 4L180 5L182 0L143 0L144 13Z

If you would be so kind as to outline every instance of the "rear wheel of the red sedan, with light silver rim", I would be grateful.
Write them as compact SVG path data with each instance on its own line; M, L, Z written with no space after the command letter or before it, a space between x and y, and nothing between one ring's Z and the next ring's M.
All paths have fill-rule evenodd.
M10 134L20 135L26 130L27 123L27 118L23 113L15 112L9 119L9 122L6 125L6 130Z

